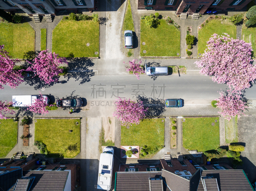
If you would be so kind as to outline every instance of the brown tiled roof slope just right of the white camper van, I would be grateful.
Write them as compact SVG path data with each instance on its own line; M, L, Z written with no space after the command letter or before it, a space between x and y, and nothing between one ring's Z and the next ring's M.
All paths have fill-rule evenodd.
M149 191L149 178L159 178L161 172L116 173L116 191Z

